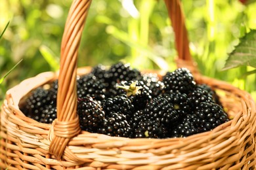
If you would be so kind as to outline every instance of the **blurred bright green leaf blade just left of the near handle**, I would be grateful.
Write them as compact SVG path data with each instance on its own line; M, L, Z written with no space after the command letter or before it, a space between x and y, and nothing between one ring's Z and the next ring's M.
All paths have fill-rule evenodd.
M51 69L53 71L57 71L59 69L59 61L57 56L54 55L53 51L45 45L41 45L39 50L43 58L45 58L47 63L49 63L51 66Z

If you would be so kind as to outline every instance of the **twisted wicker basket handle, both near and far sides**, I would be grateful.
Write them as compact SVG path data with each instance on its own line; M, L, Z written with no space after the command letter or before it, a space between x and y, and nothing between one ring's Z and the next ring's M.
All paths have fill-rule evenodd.
M91 1L74 0L64 28L60 52L60 73L58 76L57 119L52 124L54 135L49 146L50 153L56 158L61 158L70 139L81 131L76 112L77 53ZM179 58L190 61L192 59L188 48L181 3L179 0L164 1L175 31Z

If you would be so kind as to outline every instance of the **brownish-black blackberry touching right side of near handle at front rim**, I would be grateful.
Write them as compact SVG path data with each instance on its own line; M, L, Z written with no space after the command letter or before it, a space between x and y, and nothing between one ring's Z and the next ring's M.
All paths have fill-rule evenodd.
M93 133L102 126L105 116L100 105L92 97L77 98L77 114L81 129Z

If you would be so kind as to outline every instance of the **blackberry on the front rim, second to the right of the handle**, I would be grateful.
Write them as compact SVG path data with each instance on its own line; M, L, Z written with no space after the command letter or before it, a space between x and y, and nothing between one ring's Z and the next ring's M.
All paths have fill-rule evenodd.
M113 137L132 137L132 129L127 123L124 114L113 112L104 118L102 126L97 133Z

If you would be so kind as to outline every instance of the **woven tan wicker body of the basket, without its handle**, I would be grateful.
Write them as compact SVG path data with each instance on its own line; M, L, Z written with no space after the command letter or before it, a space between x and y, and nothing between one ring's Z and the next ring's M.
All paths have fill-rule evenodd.
M77 74L89 71L80 68ZM49 153L52 125L27 118L18 108L28 92L56 77L41 73L7 92L1 109L2 169L255 169L255 104L250 95L203 76L197 82L221 93L233 120L181 139L127 139L81 131L58 160Z

